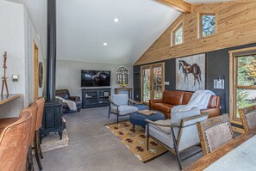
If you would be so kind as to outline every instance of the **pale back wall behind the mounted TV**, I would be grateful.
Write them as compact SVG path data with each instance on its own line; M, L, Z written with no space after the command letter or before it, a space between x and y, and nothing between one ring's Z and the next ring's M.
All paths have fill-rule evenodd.
M81 70L111 70L111 89L114 93L116 87L115 70L120 64L86 63L78 61L57 60L56 89L69 89L71 95L82 96ZM129 70L128 87L133 87L133 66L125 65ZM98 87L102 89L103 87ZM108 87L107 87L108 88ZM94 89L94 88L86 88Z

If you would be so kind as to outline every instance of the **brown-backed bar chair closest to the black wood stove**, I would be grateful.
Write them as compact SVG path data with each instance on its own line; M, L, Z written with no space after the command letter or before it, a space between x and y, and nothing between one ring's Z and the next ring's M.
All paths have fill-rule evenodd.
M41 97L38 100L36 100L35 103L38 106L38 110L37 110L37 119L36 119L35 132L34 132L34 156L35 156L38 168L41 170L42 169L41 159L43 158L43 155L41 152L40 128L42 125L45 99Z

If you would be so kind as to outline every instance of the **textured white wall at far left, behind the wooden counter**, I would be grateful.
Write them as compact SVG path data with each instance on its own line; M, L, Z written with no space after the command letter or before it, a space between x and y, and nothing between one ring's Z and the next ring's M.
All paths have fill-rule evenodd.
M9 94L22 94L16 101L0 106L0 118L3 118L17 116L23 107L28 107L33 101L33 40L39 46L39 60L43 59L41 42L22 4L1 1L0 23L0 76L3 76L3 52L7 51ZM19 75L18 82L12 81L13 74ZM39 94L42 95L42 89Z

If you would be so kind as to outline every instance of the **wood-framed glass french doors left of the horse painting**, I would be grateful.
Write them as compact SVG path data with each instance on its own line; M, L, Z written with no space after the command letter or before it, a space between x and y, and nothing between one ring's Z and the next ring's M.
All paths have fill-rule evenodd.
M141 66L141 101L161 99L165 90L165 63Z

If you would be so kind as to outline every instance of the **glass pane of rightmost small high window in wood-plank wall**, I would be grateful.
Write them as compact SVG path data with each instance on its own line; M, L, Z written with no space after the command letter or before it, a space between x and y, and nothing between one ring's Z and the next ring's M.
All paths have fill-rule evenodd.
M201 15L200 18L201 37L213 35L216 32L215 15Z

